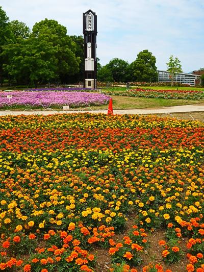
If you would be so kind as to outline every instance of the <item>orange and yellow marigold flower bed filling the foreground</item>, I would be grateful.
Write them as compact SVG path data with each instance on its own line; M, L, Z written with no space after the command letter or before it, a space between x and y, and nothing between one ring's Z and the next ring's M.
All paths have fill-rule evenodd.
M204 124L156 116L2 116L0 270L94 271L93 245L111 271L204 269ZM128 215L134 224L120 241ZM142 264L148 237L161 258ZM181 240L185 237L183 257ZM116 265L118 264L118 265ZM173 272L173 271L172 271Z

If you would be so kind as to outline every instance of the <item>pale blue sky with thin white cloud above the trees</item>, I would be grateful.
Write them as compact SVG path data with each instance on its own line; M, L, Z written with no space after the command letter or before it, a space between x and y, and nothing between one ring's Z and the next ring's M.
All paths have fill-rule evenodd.
M10 20L35 22L55 19L69 35L82 35L82 14L97 15L97 57L105 65L112 58L131 63L147 49L158 69L166 70L170 55L184 72L204 67L204 0L1 0Z

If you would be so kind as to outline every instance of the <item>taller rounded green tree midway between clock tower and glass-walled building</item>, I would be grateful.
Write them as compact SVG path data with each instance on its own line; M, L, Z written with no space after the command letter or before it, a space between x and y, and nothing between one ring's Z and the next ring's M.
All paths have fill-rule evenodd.
M156 58L148 50L137 55L133 63L134 75L137 81L154 82L157 80Z

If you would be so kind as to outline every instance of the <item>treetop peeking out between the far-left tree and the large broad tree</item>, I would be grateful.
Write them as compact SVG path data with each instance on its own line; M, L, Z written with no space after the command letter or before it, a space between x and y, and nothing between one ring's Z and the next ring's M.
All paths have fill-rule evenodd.
M20 22L18 20L9 22L9 26L15 38L21 37L23 39L27 39L31 33L30 28L27 27L24 22Z

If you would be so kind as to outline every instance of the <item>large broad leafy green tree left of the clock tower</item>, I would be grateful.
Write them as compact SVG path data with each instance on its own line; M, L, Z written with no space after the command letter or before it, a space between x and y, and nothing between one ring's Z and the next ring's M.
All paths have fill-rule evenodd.
M5 46L9 64L5 70L17 83L56 82L79 71L80 58L75 57L75 42L66 28L55 20L36 23L28 39L19 36Z

